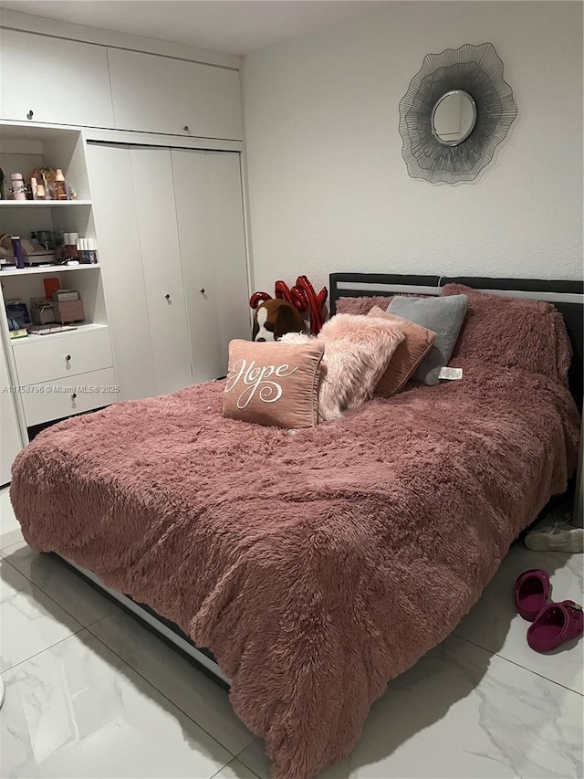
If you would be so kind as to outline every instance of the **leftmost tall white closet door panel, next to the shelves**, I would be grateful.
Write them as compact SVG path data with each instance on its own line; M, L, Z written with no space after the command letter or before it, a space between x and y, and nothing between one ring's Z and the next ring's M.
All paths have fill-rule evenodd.
M130 150L89 143L87 156L120 400L156 395Z

